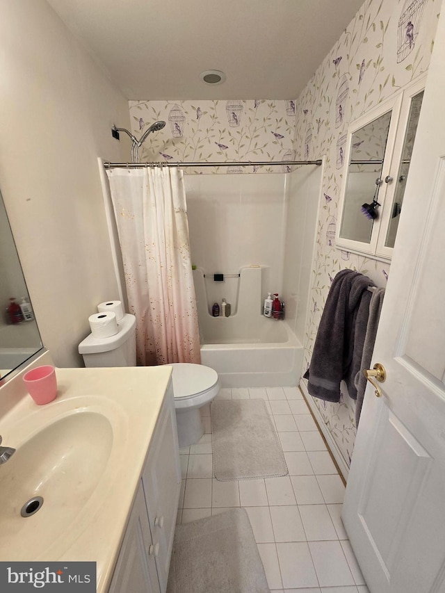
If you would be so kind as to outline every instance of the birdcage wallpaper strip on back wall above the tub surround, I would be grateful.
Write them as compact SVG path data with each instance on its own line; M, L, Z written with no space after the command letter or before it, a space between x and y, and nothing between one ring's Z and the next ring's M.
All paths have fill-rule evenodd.
M129 101L136 138L158 120L165 128L140 147L140 162L284 161L294 154L295 99L273 101ZM186 173L231 174L227 167L187 169ZM281 173L281 167L248 166L245 173Z

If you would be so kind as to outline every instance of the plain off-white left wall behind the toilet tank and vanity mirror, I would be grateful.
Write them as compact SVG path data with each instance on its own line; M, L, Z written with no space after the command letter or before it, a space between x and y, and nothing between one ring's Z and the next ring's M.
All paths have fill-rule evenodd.
M42 341L79 366L88 316L117 298L97 156L127 160L111 126L128 103L44 0L0 10L0 188Z

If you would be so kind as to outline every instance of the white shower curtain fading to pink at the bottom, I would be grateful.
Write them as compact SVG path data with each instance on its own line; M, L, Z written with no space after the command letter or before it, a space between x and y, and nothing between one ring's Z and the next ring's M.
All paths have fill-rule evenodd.
M200 363L184 172L107 170L140 366Z

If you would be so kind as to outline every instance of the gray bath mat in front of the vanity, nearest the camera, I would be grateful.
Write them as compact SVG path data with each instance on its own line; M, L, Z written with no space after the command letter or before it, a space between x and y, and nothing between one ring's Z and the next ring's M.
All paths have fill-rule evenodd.
M167 593L270 593L245 509L177 526Z

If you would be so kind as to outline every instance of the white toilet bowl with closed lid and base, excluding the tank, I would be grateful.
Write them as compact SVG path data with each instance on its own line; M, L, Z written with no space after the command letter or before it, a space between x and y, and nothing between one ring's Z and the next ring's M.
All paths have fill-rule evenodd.
M202 364L175 362L169 366L173 368L179 447L188 447L204 434L201 408L218 395L220 380L213 368Z

